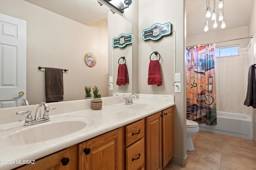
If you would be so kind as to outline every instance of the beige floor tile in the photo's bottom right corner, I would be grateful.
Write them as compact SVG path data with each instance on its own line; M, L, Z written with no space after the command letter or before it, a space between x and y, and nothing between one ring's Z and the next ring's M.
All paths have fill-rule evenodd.
M223 170L256 170L256 161L222 153L221 168Z

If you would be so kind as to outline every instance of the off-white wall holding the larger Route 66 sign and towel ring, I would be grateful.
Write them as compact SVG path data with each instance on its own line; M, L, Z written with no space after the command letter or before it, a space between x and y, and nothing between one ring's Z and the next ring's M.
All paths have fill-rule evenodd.
M186 111L184 85L184 0L140 0L139 1L139 93L174 94L174 155L186 157ZM172 23L176 30L176 72L181 73L182 93L174 93L174 34L159 41L143 41L142 32L155 23ZM161 55L160 69L162 86L148 85L150 55L158 51ZM154 56L154 55L152 55ZM135 57L135 56L133 56ZM156 59L152 57L152 59ZM182 161L182 160L181 160ZM184 162L181 162L182 165Z

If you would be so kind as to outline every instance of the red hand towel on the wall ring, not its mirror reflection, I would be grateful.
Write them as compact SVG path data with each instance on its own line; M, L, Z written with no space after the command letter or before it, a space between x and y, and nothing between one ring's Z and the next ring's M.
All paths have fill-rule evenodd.
M160 64L158 60L150 60L148 67L148 85L157 84L162 85Z

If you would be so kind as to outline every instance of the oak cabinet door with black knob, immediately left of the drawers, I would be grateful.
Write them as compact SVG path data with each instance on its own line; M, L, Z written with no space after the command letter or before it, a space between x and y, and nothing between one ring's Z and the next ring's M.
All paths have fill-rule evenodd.
M121 170L122 131L110 131L78 144L79 170Z

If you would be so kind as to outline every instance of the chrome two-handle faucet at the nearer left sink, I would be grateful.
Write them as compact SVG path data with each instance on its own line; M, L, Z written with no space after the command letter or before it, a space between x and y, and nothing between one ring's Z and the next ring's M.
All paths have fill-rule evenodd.
M43 117L41 117L42 106L44 106ZM23 115L23 114L27 113L28 115L26 116L24 126L36 125L36 124L39 124L39 123L44 123L44 122L50 121L48 112L51 109L56 109L56 107L49 107L46 103L42 102L38 105L38 107L36 109L36 114L35 114L34 119L31 116L31 110L19 111L19 112L16 113L16 115Z

